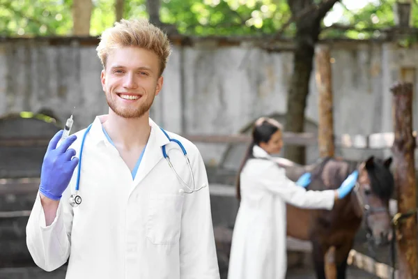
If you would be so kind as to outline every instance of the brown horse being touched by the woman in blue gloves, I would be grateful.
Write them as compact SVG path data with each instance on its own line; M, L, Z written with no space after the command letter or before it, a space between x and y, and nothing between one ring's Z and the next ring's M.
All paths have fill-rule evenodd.
M389 171L392 158L385 161L371 156L358 166L346 160L325 158L314 165L300 166L286 159L277 159L289 179L296 181L304 172L311 172L308 190L339 188L355 169L359 176L354 190L335 202L331 211L299 209L287 205L287 234L295 239L311 241L312 256L318 279L325 279L325 253L334 246L336 278L346 278L347 257L355 234L364 221L366 231L376 245L392 239L389 198L394 191L394 178Z

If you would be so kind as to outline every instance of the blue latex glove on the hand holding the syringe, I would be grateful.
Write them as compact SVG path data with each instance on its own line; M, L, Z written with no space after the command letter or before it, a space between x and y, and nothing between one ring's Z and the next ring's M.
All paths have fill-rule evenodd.
M75 156L75 150L68 149L77 140L77 136L67 137L60 146L56 147L62 135L63 130L60 130L49 142L40 172L39 191L45 197L54 200L61 199L79 162L78 158L72 158Z

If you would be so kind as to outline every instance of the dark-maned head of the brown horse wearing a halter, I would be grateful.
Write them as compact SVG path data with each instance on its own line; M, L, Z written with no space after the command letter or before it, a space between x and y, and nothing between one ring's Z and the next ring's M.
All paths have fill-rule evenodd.
M392 158L376 160L373 156L358 167L359 176L353 194L357 215L362 217L368 238L375 245L392 240L389 199L394 191L394 176L389 170Z

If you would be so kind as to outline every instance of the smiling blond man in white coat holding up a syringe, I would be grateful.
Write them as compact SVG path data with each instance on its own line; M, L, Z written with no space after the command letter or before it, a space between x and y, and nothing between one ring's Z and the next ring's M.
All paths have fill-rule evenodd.
M53 271L68 260L67 279L219 278L201 155L149 119L171 52L167 36L146 20L121 20L97 51L109 114L49 142L26 227L34 262ZM192 172L169 138L183 144ZM72 195L82 197L78 206Z

